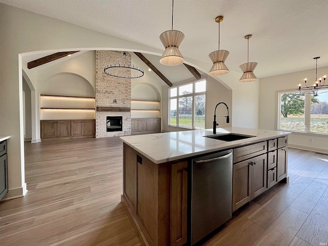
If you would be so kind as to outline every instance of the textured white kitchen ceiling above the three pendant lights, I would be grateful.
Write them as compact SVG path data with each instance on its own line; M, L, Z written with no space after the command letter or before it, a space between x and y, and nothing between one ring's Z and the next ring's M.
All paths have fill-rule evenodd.
M171 0L0 0L1 3L164 49L159 40L171 29ZM208 63L217 49L217 15L223 15L220 48L230 51L226 64L241 72L247 62L258 63L255 74L268 77L328 66L327 0L176 0L174 29L185 33L180 51L185 58Z

